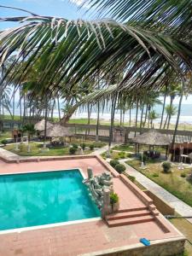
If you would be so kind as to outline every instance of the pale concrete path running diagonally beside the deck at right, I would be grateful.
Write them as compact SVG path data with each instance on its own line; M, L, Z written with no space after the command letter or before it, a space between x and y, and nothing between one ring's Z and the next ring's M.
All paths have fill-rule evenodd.
M145 177L141 172L138 172L136 169L125 163L125 160L119 160L121 163L124 163L126 166L126 172L136 177L137 181L141 183L146 189L152 191L155 195L159 196L163 200L167 201L172 207L175 208L176 212L183 217L192 217L192 207L189 207L186 203L178 199L176 196L172 195L166 189L163 189L157 183L154 183L148 177ZM187 218L192 224L192 218Z

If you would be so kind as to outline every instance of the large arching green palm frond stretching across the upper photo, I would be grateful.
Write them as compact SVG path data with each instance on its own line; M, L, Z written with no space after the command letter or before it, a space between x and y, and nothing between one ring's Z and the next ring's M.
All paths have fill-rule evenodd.
M39 95L44 95L46 90L62 91L66 87L71 90L81 79L96 73L98 67L105 71L103 76L109 72L117 74L124 67L125 76L118 90L141 86L153 89L155 74L160 83L167 66L181 69L184 66L180 65L181 61L190 61L188 44L167 35L144 31L132 23L71 21L36 15L15 17L14 20L25 20L26 23L1 32L0 60L6 61L17 53L5 78L21 61L24 64L15 67L8 82L18 73L20 81L35 69L38 81L36 79L30 89L38 90ZM138 79L140 73L143 73L143 79Z

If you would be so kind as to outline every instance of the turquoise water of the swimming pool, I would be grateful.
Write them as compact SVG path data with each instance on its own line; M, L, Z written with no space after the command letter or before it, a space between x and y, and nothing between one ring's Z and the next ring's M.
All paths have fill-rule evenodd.
M79 170L0 176L0 230L96 218Z

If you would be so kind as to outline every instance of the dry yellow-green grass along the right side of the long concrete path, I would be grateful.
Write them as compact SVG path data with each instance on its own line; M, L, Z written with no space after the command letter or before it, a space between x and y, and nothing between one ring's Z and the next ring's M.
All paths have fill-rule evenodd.
M178 170L176 166L172 167L172 172L164 173L160 162L149 162L147 168L142 170L140 168L141 161L129 160L127 164L142 172L146 177L158 183L161 187L176 195L179 199L192 207L192 183L186 180L186 177L181 177L181 174L186 176L192 172L192 168Z

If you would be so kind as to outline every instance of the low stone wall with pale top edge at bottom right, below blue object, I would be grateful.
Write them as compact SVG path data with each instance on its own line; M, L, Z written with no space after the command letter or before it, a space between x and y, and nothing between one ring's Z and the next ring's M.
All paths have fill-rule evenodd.
M149 247L143 247L142 244L119 247L106 251L85 253L81 256L178 256L184 250L184 238L164 239L152 241Z

